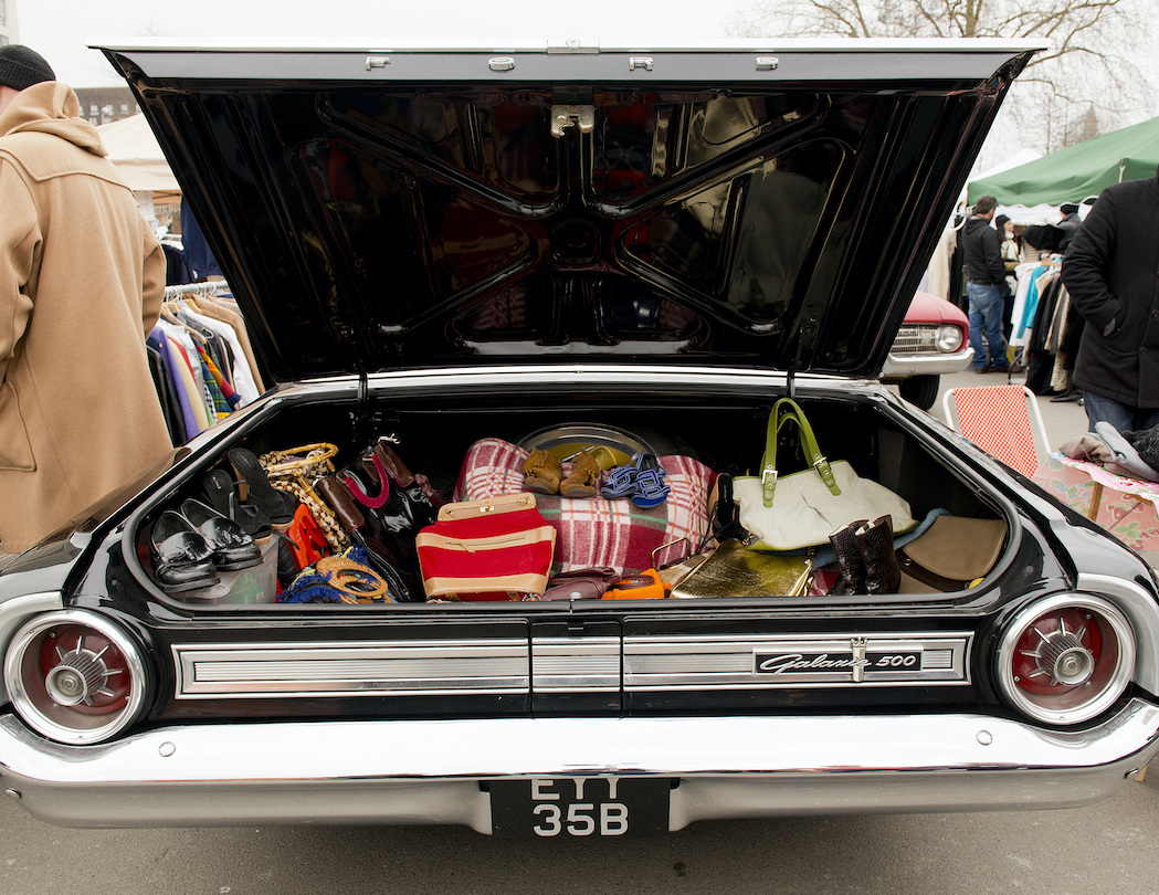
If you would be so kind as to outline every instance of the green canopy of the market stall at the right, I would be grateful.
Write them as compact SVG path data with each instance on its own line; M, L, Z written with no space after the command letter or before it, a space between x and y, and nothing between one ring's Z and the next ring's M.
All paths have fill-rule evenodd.
M1113 183L1156 176L1159 118L1095 137L1036 161L968 184L969 203L993 196L999 205L1080 203Z

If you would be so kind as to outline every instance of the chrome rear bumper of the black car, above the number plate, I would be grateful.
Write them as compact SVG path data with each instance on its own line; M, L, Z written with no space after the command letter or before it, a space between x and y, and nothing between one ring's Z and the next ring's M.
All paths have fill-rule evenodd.
M61 747L0 716L0 785L76 827L466 824L481 781L679 778L670 829L775 815L1058 808L1110 795L1159 751L1132 699L1078 733L984 715L505 719L206 725Z

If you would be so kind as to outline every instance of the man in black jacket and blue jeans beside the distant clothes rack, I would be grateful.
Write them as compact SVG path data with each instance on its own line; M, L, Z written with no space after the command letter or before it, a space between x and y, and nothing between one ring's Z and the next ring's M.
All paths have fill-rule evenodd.
M998 232L990 226L997 206L998 201L993 196L983 196L975 203L974 214L962 228L965 294L970 299L970 345L977 373L1013 372L1003 337L1003 311L1011 290L1006 284Z

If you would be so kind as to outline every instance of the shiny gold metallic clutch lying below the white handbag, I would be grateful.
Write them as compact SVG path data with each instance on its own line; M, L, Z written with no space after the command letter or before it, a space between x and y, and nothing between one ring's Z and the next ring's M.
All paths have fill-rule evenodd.
M677 598L799 597L809 588L812 558L749 550L738 540L720 547L672 588Z

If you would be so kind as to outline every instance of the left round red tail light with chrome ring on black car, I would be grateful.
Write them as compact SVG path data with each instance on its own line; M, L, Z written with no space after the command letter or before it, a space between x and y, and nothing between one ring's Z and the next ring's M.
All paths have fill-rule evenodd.
M12 639L5 685L21 718L61 743L97 743L137 716L145 665L117 625L83 610L37 616Z

